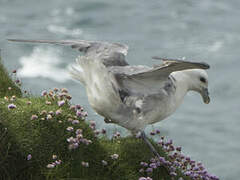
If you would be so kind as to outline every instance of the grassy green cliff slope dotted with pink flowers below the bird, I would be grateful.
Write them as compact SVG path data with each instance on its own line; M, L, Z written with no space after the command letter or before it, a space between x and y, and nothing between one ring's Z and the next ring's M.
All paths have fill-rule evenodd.
M66 89L22 94L0 59L0 179L191 179L171 143L166 151L153 142L166 161L158 163L141 139L107 139L70 99Z

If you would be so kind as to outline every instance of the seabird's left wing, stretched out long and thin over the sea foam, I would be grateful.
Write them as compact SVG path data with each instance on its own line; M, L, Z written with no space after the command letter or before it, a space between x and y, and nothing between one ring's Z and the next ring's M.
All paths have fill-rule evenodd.
M9 41L25 42L25 43L47 43L56 45L66 45L80 52L84 52L86 56L97 58L103 62L105 66L126 66L128 63L125 60L128 46L119 43L108 43L98 41L85 40L23 40L23 39L8 39Z

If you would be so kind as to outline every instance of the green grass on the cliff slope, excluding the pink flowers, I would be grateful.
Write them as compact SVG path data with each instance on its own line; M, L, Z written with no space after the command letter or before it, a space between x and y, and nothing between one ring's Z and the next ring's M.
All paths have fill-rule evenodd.
M12 90L9 91L8 87ZM12 95L17 96L16 100L10 100ZM47 100L52 104L46 105L45 97L22 97L21 90L0 64L0 179L137 180L147 176L139 172L140 162L149 162L152 153L141 139L96 138L88 123L81 118L78 118L80 123L75 125L68 121L70 117L76 119L68 103L61 107L61 115L42 120L46 117L41 115L43 110L55 112L59 109L56 100ZM11 103L16 105L15 109L8 109ZM33 114L38 118L32 120ZM74 136L75 132L67 131L68 126L73 126L75 130L81 128L83 136L93 143L80 144L79 148L69 150L66 139ZM166 157L160 147L156 148L161 156ZM115 153L119 158L112 160L110 156ZM28 154L32 155L31 160L27 160ZM46 166L53 161L53 154L62 160L62 164L49 169ZM102 160L108 165L103 166ZM83 167L82 161L89 162L89 167ZM164 167L154 170L149 176L154 180L171 179Z

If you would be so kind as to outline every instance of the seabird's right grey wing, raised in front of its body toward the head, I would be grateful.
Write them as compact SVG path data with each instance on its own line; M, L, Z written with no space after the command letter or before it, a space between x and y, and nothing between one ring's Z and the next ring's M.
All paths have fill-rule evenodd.
M133 74L115 74L122 89L136 94L158 93L161 88L167 87L169 75L174 71L187 69L208 69L206 63L188 62L173 59L162 59L163 64Z

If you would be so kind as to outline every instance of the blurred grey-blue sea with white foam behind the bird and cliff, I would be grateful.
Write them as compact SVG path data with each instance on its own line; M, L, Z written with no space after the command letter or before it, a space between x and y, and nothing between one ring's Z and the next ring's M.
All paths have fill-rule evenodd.
M0 0L0 49L8 70L18 69L24 89L66 87L109 133L128 132L106 125L88 104L85 90L66 67L79 52L69 47L20 44L7 38L85 39L129 45L130 64L160 63L151 56L205 61L211 103L189 93L176 113L149 126L183 147L220 179L240 173L240 1L239 0Z

